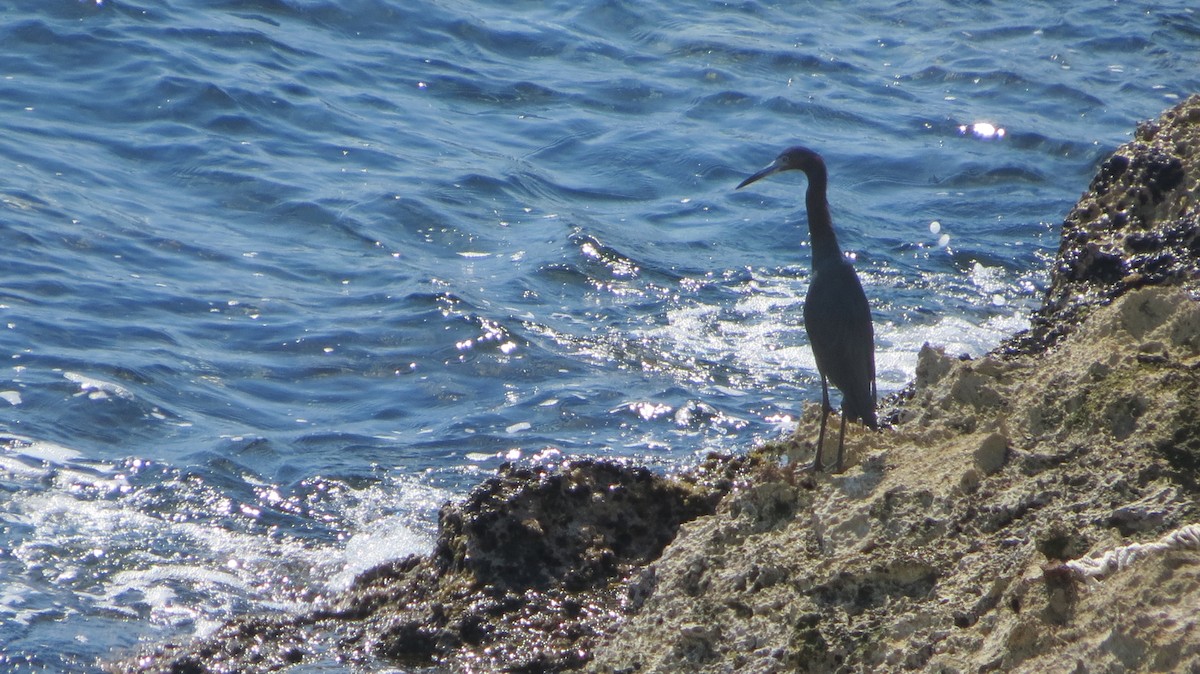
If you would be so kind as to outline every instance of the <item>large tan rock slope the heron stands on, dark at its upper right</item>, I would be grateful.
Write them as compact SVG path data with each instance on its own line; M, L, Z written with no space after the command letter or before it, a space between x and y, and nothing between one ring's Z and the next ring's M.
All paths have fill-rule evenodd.
M685 524L586 670L1200 670L1200 98L1164 120L1068 218L1057 327L1004 357L923 348L844 474L768 471Z

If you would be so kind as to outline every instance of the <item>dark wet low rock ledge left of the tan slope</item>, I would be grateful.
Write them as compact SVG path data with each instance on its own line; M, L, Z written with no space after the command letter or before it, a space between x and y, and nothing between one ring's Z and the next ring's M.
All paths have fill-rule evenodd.
M372 568L310 613L246 616L108 669L577 668L628 610L631 577L683 522L712 513L750 463L712 459L676 479L589 459L505 467L466 501L443 507L431 555Z

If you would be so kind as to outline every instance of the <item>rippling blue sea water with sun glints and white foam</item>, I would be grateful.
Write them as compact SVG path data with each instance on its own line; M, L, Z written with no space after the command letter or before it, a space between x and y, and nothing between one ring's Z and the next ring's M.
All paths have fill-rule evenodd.
M803 179L733 191L786 145L882 392L991 348L1200 91L1192 2L1058 5L6 1L0 669L295 609L506 459L786 432Z

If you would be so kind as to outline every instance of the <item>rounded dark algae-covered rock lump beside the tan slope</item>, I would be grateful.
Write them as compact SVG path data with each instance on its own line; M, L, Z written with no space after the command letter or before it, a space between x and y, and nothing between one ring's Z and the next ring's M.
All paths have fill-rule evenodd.
M680 487L616 463L508 468L463 506L443 508L433 556L442 572L503 590L600 586L656 559L679 524L713 511L710 492Z

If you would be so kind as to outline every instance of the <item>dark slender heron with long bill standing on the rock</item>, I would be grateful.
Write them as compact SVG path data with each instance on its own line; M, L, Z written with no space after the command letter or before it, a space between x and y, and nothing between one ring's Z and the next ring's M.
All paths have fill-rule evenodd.
M846 420L862 421L872 431L878 428L875 419L875 330L863 284L850 260L841 254L838 236L833 233L833 219L826 201L828 175L821 155L808 148L788 148L769 167L743 180L738 189L791 169L803 170L809 177L804 205L812 239L812 279L804 299L804 330L809 333L812 356L821 373L821 433L817 435L812 470L821 470L826 417L833 411L828 383L833 381L841 391L841 432L838 434L835 468L840 471Z

